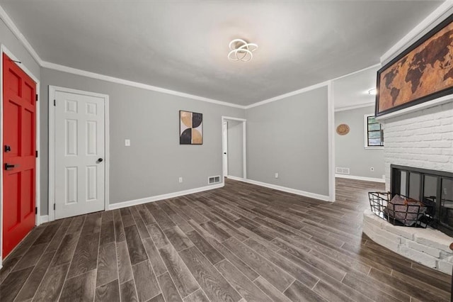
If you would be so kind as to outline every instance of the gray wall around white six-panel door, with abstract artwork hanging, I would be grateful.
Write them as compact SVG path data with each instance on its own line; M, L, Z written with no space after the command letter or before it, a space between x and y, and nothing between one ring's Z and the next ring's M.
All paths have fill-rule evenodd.
M48 196L48 85L110 96L110 203L207 186L208 177L222 175L222 116L245 114L239 108L52 69L41 69L41 79L42 215ZM179 145L179 110L203 113L203 145ZM126 138L130 147L125 147Z

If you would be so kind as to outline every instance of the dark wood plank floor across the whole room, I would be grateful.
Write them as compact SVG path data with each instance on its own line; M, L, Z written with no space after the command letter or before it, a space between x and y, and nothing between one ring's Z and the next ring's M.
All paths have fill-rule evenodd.
M367 191L337 201L222 189L45 223L5 260L6 301L449 301L450 277L362 234Z

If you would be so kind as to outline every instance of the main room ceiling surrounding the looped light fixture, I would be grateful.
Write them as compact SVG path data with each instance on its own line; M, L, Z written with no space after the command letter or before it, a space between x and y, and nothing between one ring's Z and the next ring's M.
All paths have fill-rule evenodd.
M241 105L379 63L441 3L0 0L42 60Z

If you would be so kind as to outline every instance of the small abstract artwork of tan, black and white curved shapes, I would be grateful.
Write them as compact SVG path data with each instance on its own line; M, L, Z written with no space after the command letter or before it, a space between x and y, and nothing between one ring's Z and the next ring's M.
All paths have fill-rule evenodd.
M179 144L203 144L203 114L179 111Z

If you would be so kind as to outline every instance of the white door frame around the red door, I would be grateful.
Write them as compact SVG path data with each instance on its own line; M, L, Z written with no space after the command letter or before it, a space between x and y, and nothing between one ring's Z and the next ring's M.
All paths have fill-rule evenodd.
M3 149L3 54L6 54L8 57L10 57L12 60L21 62L21 60L18 59L15 55L13 55L13 52L8 50L5 45L1 44L0 45L0 145L1 148ZM33 81L36 83L36 94L38 94L38 100L40 100L40 80L38 77L35 77L35 74L30 72L30 69L25 67L25 65L21 62L18 63L18 67L25 72L25 74L28 75ZM36 151L38 151L38 155L40 155L40 106L39 106L39 101L37 102L35 106L35 120L36 120L36 125L35 125L35 140L36 140ZM3 171L3 153L0 156L0 167L2 168ZM1 269L1 262L3 259L2 255L2 250L3 250L3 172L0 174L0 208L1 208L1 215L0 215L0 269ZM35 217L35 225L40 225L40 157L36 159L36 168L35 168L35 206L38 208L37 214Z

